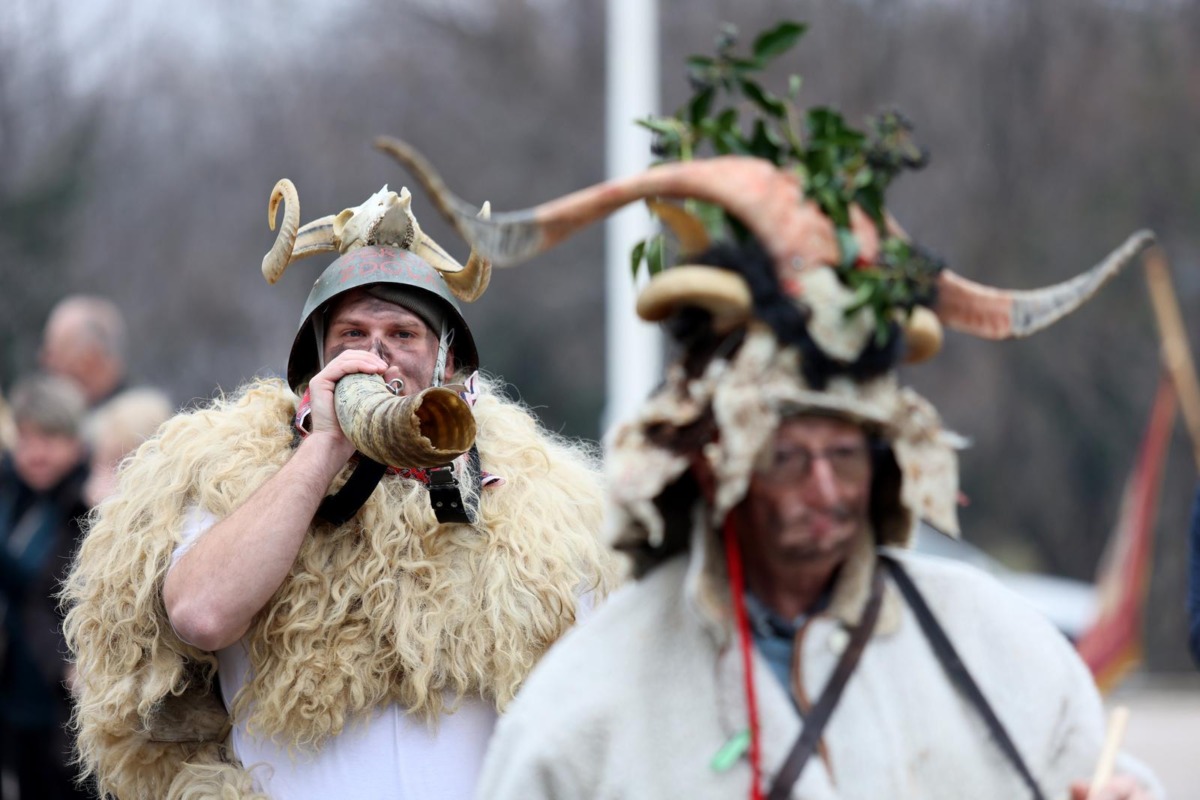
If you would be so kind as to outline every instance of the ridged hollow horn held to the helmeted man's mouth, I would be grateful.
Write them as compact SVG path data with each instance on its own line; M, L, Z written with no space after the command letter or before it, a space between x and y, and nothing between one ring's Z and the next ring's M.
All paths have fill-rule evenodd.
M475 417L452 389L397 397L379 375L354 373L334 390L337 421L367 458L392 467L442 467L470 450Z

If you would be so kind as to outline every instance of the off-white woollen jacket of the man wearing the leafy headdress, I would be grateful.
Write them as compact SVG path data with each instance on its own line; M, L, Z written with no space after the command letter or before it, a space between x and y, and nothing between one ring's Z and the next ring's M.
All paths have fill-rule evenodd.
M1067 640L989 576L896 554L959 648L1049 799L1087 780L1104 734L1099 698ZM866 596L875 548L841 571L829 612L800 642L803 703L815 703ZM626 585L559 642L500 718L480 800L749 796L743 756L713 757L748 727L742 657L697 600L721 594L694 547ZM847 585L853 584L853 585ZM948 682L895 587L793 800L1028 798L976 710ZM728 591L724 590L728 601ZM764 788L800 733L787 690L755 651ZM1130 771L1130 770L1127 770ZM1133 770L1136 771L1136 770ZM1150 781L1152 783L1152 778Z

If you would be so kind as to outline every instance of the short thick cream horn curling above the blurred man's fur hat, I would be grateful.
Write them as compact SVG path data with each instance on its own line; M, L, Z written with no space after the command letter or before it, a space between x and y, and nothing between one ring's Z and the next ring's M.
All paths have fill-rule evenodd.
M637 315L658 323L684 306L696 306L713 314L718 333L733 330L750 318L750 287L730 270L688 264L655 275L637 295Z

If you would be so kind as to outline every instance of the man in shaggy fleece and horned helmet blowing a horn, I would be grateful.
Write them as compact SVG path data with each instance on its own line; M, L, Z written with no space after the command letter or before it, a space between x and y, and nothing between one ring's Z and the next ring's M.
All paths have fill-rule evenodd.
M466 798L498 710L614 561L594 453L475 374L454 263L409 196L298 227L338 258L288 380L168 421L64 590L78 751L119 798ZM486 211L485 211L486 216Z

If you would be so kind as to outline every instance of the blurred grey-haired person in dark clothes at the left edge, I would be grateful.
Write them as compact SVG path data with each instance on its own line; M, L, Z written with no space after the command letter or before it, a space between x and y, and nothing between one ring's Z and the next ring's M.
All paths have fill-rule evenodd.
M86 401L72 381L32 375L12 392L17 439L0 462L0 763L20 800L83 798L70 766L66 646L54 596L79 536Z

